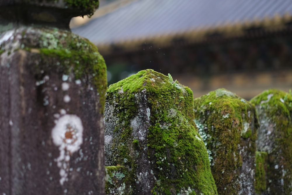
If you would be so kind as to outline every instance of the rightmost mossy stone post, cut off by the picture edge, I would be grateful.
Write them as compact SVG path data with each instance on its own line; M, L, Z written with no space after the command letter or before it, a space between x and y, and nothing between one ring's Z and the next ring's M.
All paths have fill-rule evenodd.
M277 89L251 99L260 128L256 147L257 194L292 194L292 94Z

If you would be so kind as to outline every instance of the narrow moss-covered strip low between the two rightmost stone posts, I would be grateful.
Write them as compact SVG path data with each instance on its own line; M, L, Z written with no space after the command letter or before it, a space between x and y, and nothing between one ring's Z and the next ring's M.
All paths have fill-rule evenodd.
M255 191L257 194L261 194L267 189L267 159L267 152L256 152Z

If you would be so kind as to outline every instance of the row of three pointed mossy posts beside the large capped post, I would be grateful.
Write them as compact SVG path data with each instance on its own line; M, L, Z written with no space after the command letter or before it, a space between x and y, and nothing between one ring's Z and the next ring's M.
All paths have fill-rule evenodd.
M107 89L106 194L291 194L291 117L291 92L193 100L142 70Z

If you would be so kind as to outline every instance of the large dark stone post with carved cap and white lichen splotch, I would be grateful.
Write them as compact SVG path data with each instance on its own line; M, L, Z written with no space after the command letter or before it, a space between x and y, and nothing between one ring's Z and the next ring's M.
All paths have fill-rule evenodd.
M0 0L0 194L104 194L106 67L72 34L98 0Z

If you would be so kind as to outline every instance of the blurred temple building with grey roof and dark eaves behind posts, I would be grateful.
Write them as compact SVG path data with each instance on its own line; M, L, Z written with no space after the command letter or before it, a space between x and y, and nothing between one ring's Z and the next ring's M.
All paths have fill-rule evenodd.
M109 83L151 68L194 97L292 89L291 0L117 0L82 21L72 32L98 46Z

